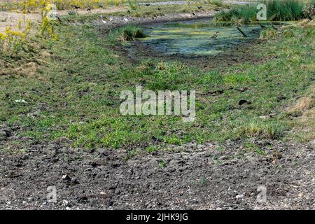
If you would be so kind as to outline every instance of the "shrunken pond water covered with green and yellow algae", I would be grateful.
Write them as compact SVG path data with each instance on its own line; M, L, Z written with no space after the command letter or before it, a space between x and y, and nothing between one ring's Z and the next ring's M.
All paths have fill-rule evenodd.
M275 27L286 23L272 23ZM271 25L263 23L262 25ZM246 38L235 25L214 23L211 20L165 23L154 27L144 27L149 35L139 39L153 50L166 55L215 55L238 43L259 38L262 28L259 24L240 27ZM218 31L217 38L211 38Z

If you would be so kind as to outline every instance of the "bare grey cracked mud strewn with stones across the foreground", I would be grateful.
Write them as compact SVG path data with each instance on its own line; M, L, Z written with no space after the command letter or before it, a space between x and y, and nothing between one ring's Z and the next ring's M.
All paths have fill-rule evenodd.
M253 142L265 155L231 141L132 158L58 143L1 153L0 209L315 209L313 146ZM47 201L48 186L56 203Z

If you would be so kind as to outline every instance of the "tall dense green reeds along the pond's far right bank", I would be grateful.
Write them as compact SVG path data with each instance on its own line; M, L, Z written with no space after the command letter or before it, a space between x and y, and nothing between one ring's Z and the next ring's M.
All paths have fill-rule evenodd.
M267 6L267 20L269 21L293 21L306 18L303 14L304 4L297 0L270 0L264 1ZM231 10L222 11L214 15L215 21L246 24L257 21L258 9L255 4L235 6Z

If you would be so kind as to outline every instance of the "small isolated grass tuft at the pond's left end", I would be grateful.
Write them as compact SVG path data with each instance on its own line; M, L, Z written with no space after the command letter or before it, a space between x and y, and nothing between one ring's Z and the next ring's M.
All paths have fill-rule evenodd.
M109 41L134 41L135 38L145 38L147 35L139 27L127 25L109 32Z

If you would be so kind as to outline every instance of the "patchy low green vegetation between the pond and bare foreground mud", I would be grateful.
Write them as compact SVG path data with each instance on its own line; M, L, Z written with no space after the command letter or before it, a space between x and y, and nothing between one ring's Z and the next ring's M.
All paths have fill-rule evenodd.
M56 31L59 41L46 45L52 56L36 61L41 64L36 75L0 77L0 120L19 136L10 147L70 139L76 147L152 151L190 141L298 139L290 132L295 126L288 108L314 84L315 61L309 55L315 48L314 27L288 28L255 46L253 57L272 58L264 63L223 71L150 58L130 64L92 25L62 25ZM120 115L120 92L139 84L154 91L196 90L197 120ZM221 94L211 94L216 91ZM239 106L240 99L251 104Z

